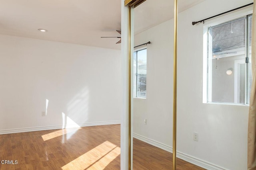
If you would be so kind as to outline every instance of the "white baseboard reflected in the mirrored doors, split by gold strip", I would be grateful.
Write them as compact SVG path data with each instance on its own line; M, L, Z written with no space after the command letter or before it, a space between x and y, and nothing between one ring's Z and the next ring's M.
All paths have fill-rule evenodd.
M158 147L160 149L166 150L168 152L172 153L172 151L173 151L171 146L168 146L168 145L166 145L164 143L160 143L158 141L155 141L155 140L149 139L147 137L138 135L136 133L133 133L133 137L138 139L138 140L140 140L140 141L143 141L143 142L146 142L146 143L148 143L150 145ZM180 158L182 160L185 160L186 162L189 162L189 163L194 164L196 166L200 166L200 167L205 168L207 170L228 170L227 168L223 168L221 166L212 164L211 162L207 162L205 160L196 158L194 156L182 153L182 152L180 152L178 150L176 151L176 156L177 156L177 158Z

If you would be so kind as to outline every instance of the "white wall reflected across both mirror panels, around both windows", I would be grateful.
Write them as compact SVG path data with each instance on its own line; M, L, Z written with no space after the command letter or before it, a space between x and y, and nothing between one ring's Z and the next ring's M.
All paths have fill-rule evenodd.
M203 103L204 26L252 7L205 24L192 21L251 2L206 0L178 15L177 150L215 168L247 169L248 106ZM134 98L134 133L172 147L173 20L138 33L134 41L134 45L152 42L147 46L147 98Z

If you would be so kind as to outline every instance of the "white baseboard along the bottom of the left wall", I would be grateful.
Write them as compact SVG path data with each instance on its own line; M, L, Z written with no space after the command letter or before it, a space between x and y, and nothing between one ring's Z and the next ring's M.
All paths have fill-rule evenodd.
M87 127L87 126L99 126L99 125L115 125L120 123L121 121L101 121L101 122L82 123L79 126ZM53 130L53 129L65 129L65 128L72 128L77 126L78 125L54 125L54 126L42 126L42 127L28 127L28 128L20 128L20 129L8 129L8 130L0 130L0 135L10 134L10 133L45 131L45 130Z

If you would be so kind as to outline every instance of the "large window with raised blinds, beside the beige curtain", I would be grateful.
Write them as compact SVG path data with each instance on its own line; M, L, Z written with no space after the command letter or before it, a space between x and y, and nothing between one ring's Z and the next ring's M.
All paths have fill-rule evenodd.
M208 102L249 104L252 15L208 27Z

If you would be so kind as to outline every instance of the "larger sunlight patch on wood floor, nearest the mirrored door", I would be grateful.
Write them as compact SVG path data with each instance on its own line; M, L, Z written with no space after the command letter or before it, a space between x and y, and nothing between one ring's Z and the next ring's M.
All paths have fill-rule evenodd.
M103 170L118 155L120 155L120 147L105 141L65 166L62 166L62 170Z

